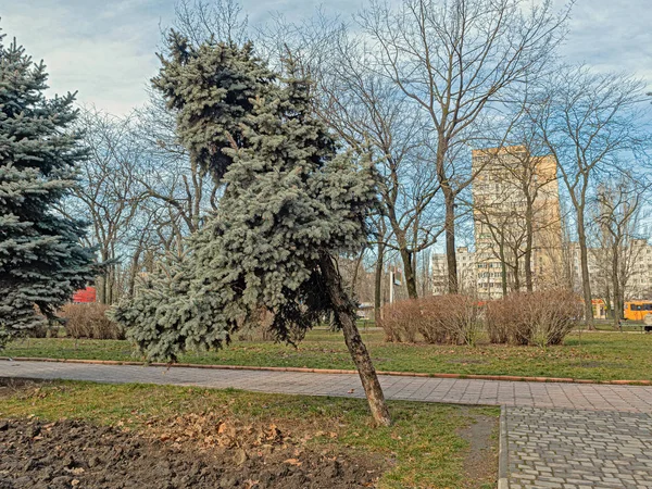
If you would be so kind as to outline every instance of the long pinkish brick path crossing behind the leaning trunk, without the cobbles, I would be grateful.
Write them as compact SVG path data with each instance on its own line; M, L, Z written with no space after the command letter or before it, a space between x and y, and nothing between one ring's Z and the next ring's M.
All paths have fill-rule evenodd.
M233 387L308 396L364 396L358 375L0 361L0 377ZM388 399L652 412L652 387L380 376ZM353 392L350 392L353 389Z

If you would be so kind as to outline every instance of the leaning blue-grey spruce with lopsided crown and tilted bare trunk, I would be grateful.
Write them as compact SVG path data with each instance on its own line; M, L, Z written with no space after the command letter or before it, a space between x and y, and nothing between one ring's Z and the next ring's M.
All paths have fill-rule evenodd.
M291 60L279 77L251 46L195 50L173 34L168 47L154 86L177 111L190 158L212 172L224 195L185 259L148 277L113 317L149 359L175 361L188 348L228 343L261 309L285 341L334 313L372 415L389 425L354 302L334 262L367 239L376 202L371 161L338 154Z

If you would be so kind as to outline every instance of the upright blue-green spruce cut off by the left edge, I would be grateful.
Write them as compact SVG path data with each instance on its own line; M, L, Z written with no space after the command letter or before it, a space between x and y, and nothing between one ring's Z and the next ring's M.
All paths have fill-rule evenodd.
M74 96L46 98L47 77L0 37L0 347L54 319L95 274L82 224L54 211L86 152L71 128Z

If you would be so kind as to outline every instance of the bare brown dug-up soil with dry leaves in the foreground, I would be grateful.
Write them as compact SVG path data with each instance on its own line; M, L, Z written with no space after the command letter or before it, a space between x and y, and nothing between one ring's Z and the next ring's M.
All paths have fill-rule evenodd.
M275 427L218 425L212 439L199 438L201 426L177 423L154 438L70 419L0 419L0 489L362 488L381 473L380 460L306 449Z

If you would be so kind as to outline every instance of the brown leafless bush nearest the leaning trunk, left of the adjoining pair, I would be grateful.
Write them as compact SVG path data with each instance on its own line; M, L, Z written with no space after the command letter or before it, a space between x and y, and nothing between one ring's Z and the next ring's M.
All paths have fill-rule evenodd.
M381 327L388 341L475 344L481 330L480 308L468 296L434 296L383 308Z

